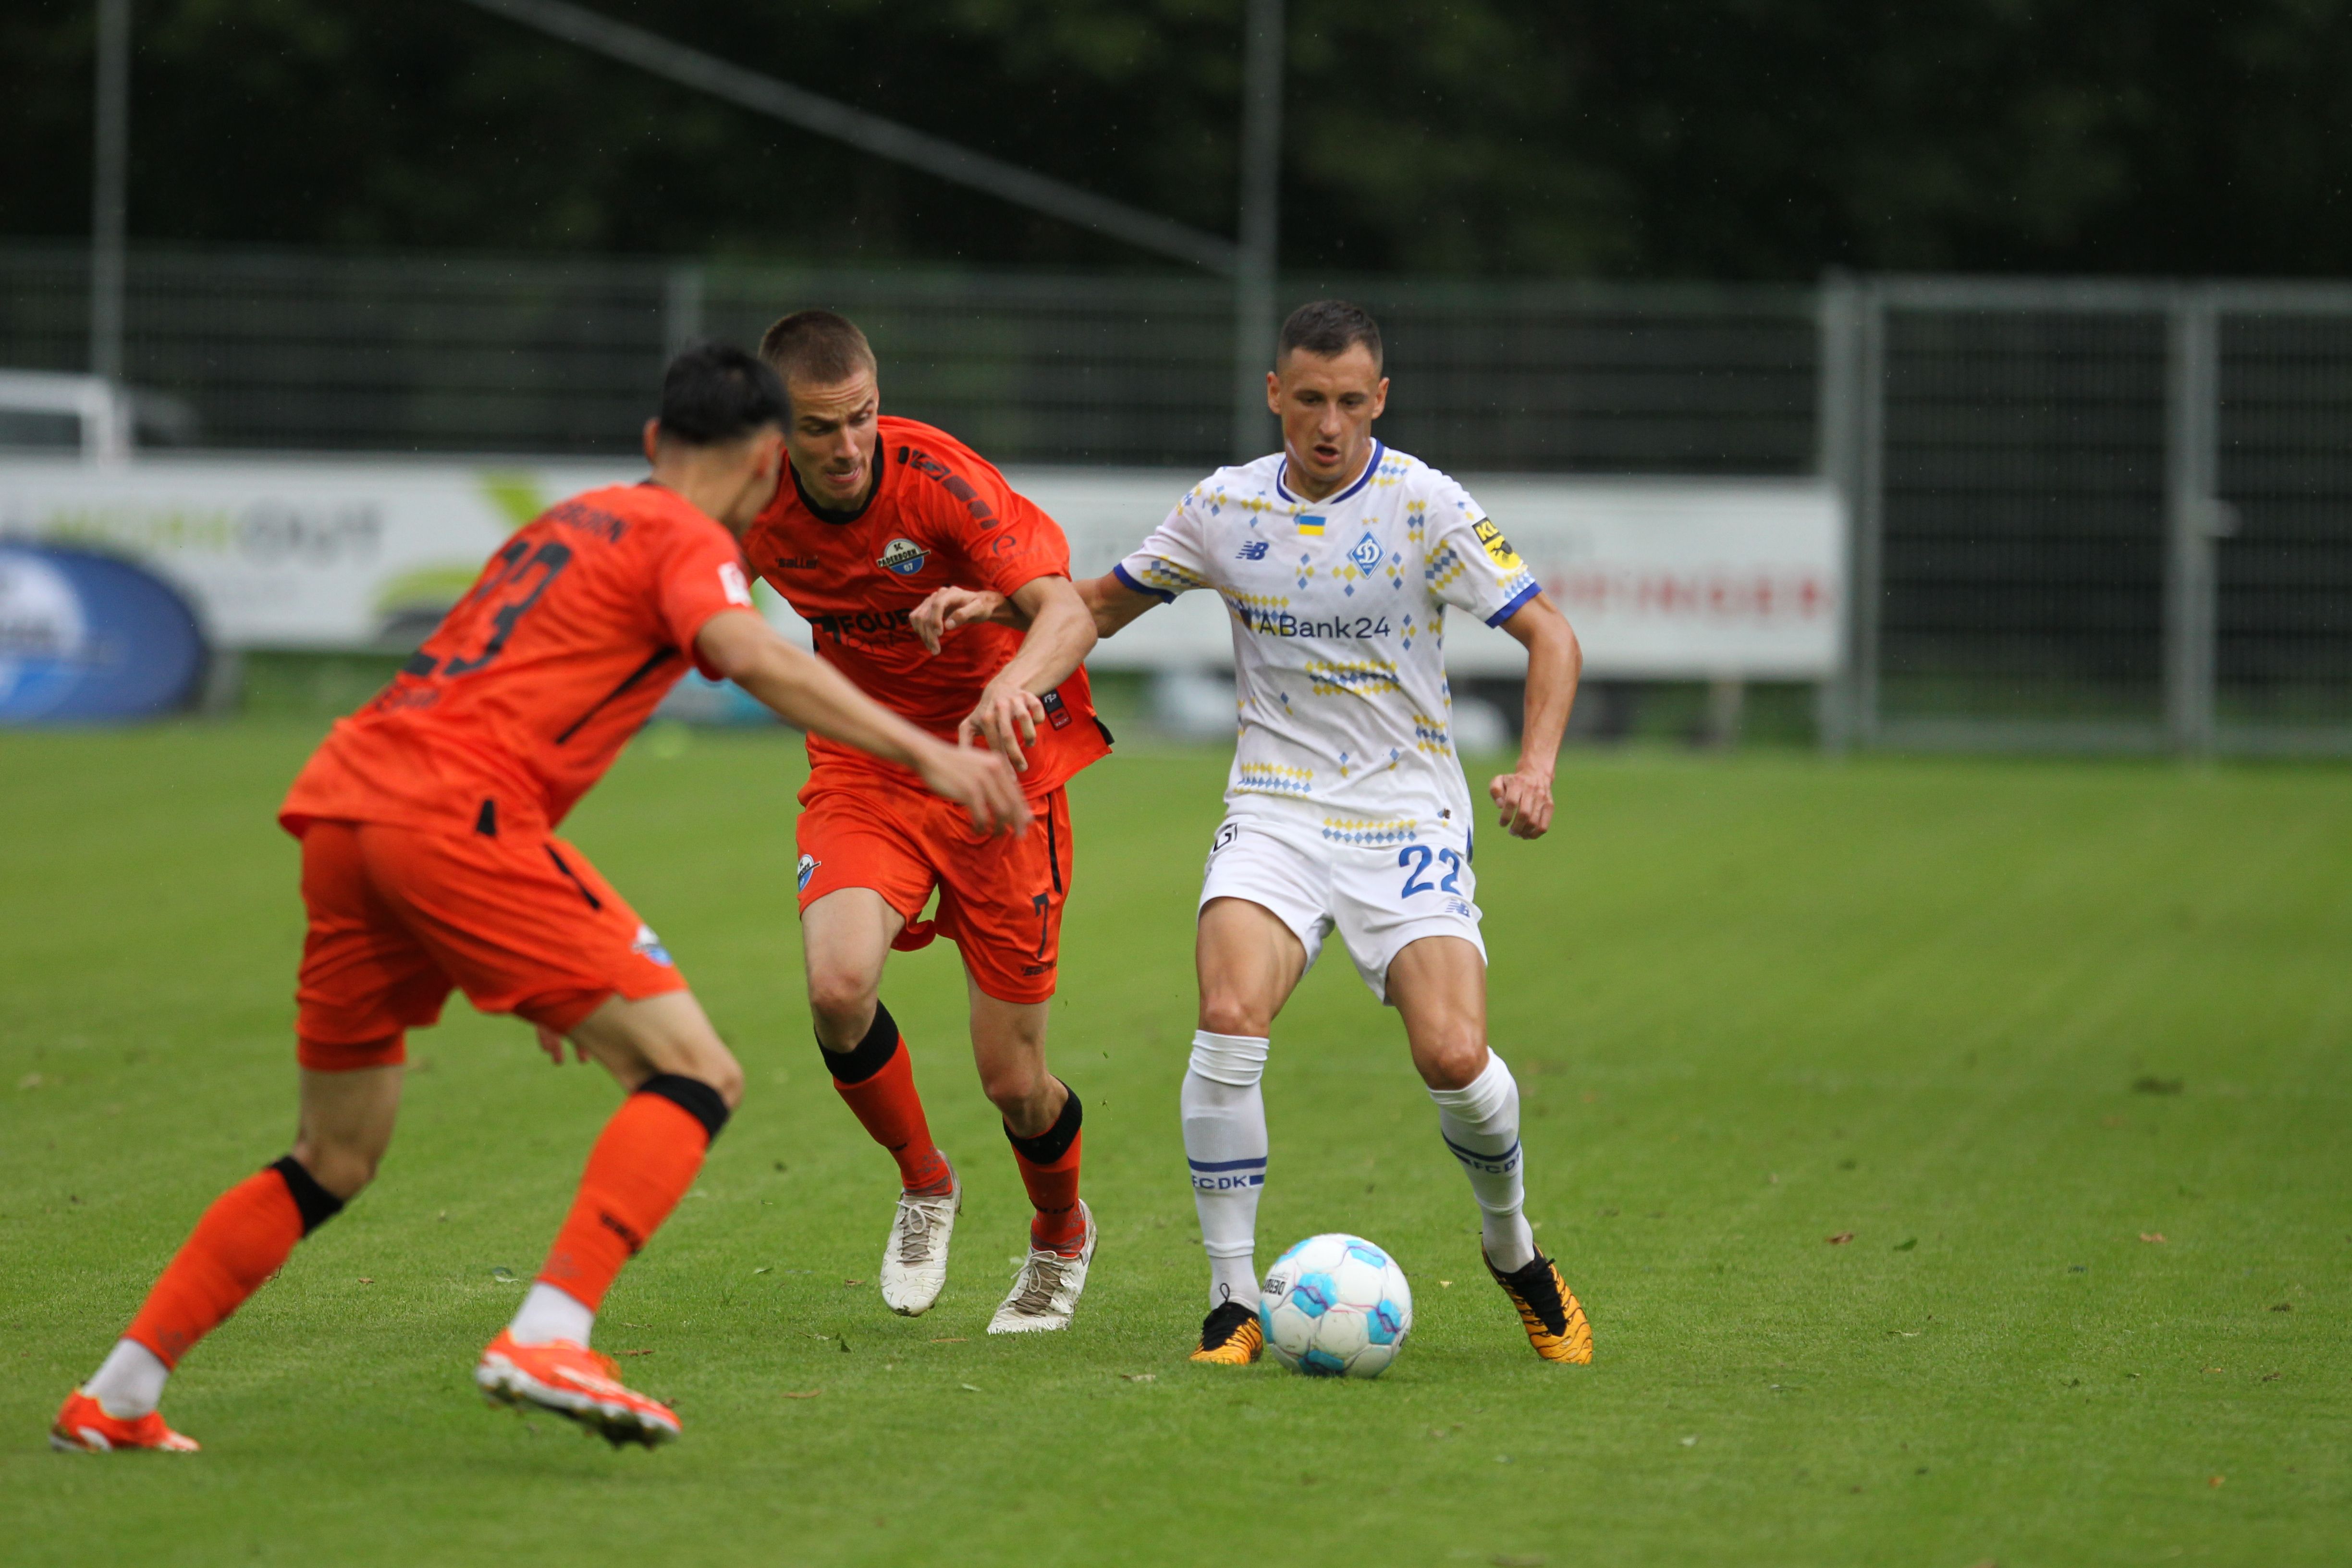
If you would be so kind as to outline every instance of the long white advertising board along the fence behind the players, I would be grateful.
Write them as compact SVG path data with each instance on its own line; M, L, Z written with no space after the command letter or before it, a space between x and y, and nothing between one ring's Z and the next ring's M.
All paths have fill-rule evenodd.
M172 456L0 458L0 536L129 555L183 588L238 649L414 646L506 534L642 468L576 461ZM1014 468L1061 520L1080 576L1108 571L1197 480L1190 473ZM1465 480L1576 623L1597 677L1820 679L1837 668L1844 520L1813 482ZM764 597L764 595L762 595ZM800 630L771 604L771 618ZM1458 675L1524 668L1508 635L1456 616ZM1230 663L1207 592L1101 644L1101 668Z

